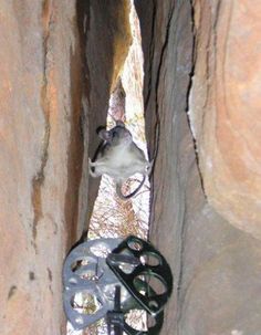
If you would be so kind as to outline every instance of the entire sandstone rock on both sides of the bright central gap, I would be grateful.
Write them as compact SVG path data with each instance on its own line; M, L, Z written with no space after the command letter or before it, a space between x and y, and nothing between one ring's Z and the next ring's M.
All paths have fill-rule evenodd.
M174 272L165 335L261 334L258 1L136 0L150 240ZM61 269L87 228L127 0L2 1L1 334L65 334Z

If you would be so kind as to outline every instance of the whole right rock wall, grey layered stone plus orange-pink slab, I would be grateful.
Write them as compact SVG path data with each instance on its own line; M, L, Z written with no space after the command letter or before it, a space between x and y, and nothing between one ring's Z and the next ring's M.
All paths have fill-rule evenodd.
M254 28L250 33L260 23L254 3L247 2L236 9L232 1L135 1L145 53L147 136L150 156L156 154L150 240L175 278L161 334L261 333L259 185L251 188L258 166L250 165L259 143L258 125L250 126L258 122L258 100L253 107L251 98L259 87L258 71L249 77L252 91L243 83L252 57L260 65L251 44L252 34L260 32ZM246 35L252 36L247 54L238 50ZM228 36L234 39L226 44ZM244 56L249 63L242 64ZM246 104L253 118L240 113ZM239 137L243 129L244 140ZM221 160L221 148L227 159ZM247 198L243 206L240 195Z

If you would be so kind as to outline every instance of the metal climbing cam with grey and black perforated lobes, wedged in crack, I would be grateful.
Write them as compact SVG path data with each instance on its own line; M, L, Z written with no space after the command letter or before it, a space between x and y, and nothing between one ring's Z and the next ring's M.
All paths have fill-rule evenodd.
M109 335L156 335L173 275L159 251L137 237L97 239L70 252L63 284L64 310L74 329L105 317Z

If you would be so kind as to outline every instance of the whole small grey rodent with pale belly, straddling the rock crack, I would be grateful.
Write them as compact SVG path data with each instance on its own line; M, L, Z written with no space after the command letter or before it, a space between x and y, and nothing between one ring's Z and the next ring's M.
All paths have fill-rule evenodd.
M149 163L144 151L133 142L130 132L122 121L111 130L102 129L98 136L104 140L100 147L96 159L88 158L90 175L94 178L103 174L112 177L116 182L116 193L121 199L129 199L135 196L144 185L146 176L152 171L153 160ZM143 180L129 195L122 192L122 185L133 175L142 174Z

